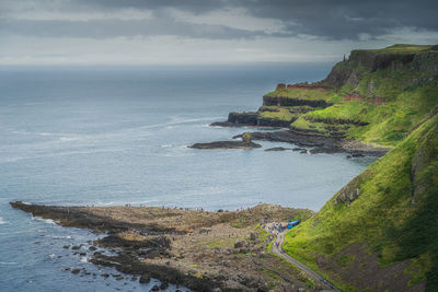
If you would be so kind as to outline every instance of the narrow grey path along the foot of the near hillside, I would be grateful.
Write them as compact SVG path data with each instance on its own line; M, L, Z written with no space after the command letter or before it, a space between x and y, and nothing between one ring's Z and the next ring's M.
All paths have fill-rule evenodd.
M288 230L285 229L281 233L278 233L276 240L274 241L273 247L272 247L273 253L276 254L277 256L281 257L289 264L293 265L295 267L297 267L298 269L303 271L306 275L308 275L312 279L314 279L318 283L320 283L321 285L323 285L326 289L325 291L341 291L341 290L337 290L334 285L332 285L327 280L325 280L325 278L320 276L318 272L313 271L308 266L306 266L301 261L298 261L297 259L292 258L291 256L286 254L285 250L283 250L283 244L285 242L285 235L286 235L287 231ZM278 245L275 243L277 243Z

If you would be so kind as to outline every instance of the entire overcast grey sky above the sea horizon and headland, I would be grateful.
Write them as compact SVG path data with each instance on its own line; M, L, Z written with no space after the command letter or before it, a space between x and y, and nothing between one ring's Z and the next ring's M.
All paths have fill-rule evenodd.
M330 62L438 43L437 0L0 0L0 66Z

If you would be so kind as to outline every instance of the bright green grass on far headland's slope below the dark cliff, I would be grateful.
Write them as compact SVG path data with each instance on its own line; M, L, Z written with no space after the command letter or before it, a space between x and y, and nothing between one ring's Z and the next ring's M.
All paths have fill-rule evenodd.
M343 129L347 139L395 147L438 104L438 79L418 84L415 80L423 74L429 73L413 73L407 69L368 72L357 86L341 89L344 94L362 96L364 101L336 102L301 114L291 127L326 135L330 125L350 124L348 129ZM377 96L385 102L374 103ZM368 125L357 127L364 124Z

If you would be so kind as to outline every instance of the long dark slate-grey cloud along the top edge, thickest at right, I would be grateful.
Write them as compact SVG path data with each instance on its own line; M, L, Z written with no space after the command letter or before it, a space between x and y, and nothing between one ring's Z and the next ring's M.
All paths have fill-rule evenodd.
M244 8L257 17L280 20L285 35L308 34L333 39L371 37L389 30L414 27L438 31L437 0L78 0L101 9L175 8L204 13L223 8ZM298 24L298 25L297 25Z

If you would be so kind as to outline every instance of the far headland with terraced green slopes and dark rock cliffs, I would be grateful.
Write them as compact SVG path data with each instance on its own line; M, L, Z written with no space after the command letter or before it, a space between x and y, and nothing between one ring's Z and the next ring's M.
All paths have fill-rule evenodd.
M437 96L438 46L394 45L351 51L323 81L279 84L257 115L297 132L394 147Z

